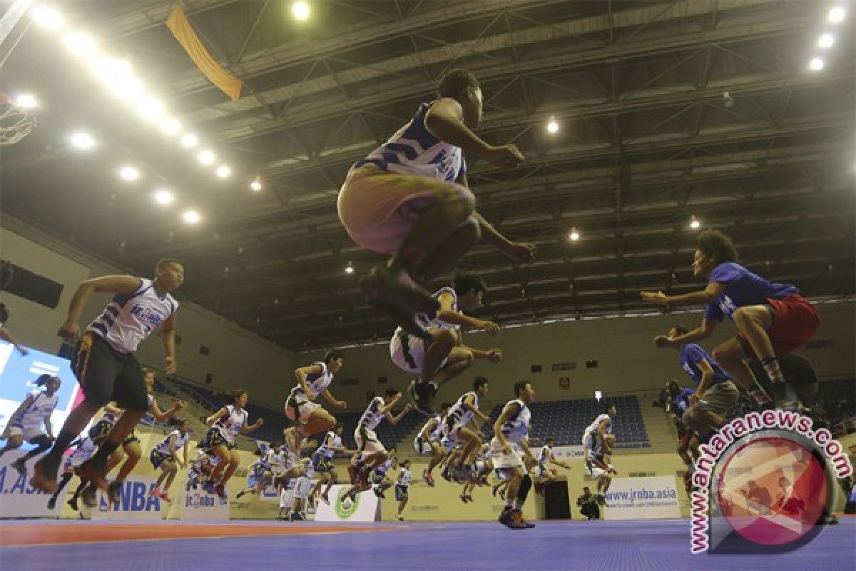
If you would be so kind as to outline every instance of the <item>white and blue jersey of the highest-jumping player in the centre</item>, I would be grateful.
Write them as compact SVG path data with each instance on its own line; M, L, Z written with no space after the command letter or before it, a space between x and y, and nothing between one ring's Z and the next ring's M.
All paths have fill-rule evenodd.
M419 105L407 125L365 159L357 161L354 168L373 164L380 170L446 182L455 182L459 176L466 175L467 161L461 149L437 139L425 127L425 114L432 104L433 101Z

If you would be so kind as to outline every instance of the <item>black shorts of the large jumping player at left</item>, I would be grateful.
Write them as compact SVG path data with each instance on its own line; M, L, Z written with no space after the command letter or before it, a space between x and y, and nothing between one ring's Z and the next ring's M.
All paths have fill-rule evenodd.
M103 407L116 401L128 410L149 409L146 383L134 354L119 353L92 331L80 340L72 368L87 402Z

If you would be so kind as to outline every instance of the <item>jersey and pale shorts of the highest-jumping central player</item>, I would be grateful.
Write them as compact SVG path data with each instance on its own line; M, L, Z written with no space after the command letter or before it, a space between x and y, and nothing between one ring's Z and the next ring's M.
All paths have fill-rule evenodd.
M395 253L419 211L438 200L474 200L467 187L455 182L467 173L461 149L425 127L431 104L421 104L407 125L356 162L339 191L336 210L342 225L373 252ZM461 226L468 223L476 223L475 218Z

